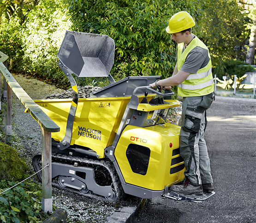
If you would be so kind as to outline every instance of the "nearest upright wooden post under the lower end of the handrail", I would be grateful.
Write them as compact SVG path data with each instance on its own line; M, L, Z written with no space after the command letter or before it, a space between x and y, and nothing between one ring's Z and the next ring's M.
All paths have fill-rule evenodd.
M53 212L52 199L52 139L51 132L42 129L42 210L45 213Z

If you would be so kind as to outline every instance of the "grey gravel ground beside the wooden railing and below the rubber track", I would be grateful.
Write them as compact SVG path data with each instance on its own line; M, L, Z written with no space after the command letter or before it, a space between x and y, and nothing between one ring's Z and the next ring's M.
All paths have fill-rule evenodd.
M22 75L13 76L33 100L66 93L66 91L36 79L28 79ZM41 127L29 113L24 113L24 110L24 105L12 93L12 147L18 150L24 160L27 160L30 172L33 174L32 158L42 151ZM108 216L119 212L122 207L137 206L139 202L138 198L132 196L127 196L119 202L85 198L54 187L52 196L54 206L65 209L68 214L68 222L71 223L104 223Z

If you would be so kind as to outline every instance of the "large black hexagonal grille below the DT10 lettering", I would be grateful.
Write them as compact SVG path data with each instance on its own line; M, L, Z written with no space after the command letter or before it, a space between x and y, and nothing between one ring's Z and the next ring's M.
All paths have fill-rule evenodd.
M150 157L150 149L148 147L130 144L126 150L126 157L132 172L146 175Z

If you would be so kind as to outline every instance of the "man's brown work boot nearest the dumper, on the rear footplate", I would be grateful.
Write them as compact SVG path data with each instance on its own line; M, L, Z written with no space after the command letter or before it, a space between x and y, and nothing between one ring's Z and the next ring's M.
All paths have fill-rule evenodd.
M191 183L189 179L186 179L183 185L173 185L170 189L180 194L202 194L202 185Z

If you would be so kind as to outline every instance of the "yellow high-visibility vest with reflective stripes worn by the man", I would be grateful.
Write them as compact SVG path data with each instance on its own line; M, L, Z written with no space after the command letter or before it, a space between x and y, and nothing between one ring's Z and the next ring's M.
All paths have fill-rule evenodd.
M194 49L196 46L202 47L208 51L207 46L195 37L186 49L182 52L184 43L178 44L177 49L177 66L178 71L180 70L182 64L185 62L186 57L189 52ZM193 96L202 96L210 94L214 91L214 80L212 75L212 62L211 57L208 51L208 57L210 58L208 64L199 69L196 74L191 73L186 80L178 85L178 94L181 97L193 97Z

